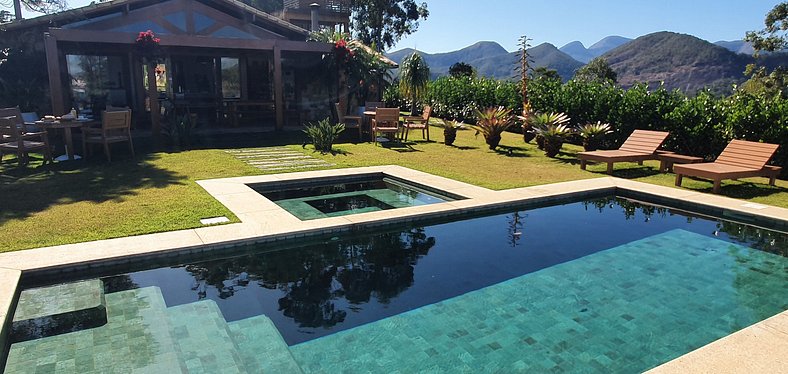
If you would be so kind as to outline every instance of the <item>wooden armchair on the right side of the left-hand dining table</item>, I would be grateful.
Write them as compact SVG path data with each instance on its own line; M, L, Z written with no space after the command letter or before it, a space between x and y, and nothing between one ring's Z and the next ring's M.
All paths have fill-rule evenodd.
M107 161L112 162L109 145L119 142L129 142L131 157L134 157L134 143L131 139L131 110L104 111L101 114L100 128L82 129L82 147L85 158L90 150L89 143L103 144Z

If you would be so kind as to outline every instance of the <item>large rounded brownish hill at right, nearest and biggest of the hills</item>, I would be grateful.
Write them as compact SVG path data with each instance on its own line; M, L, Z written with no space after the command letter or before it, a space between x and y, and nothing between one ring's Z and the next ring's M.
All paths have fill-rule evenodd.
M618 74L618 82L652 85L695 92L703 87L730 87L744 79L751 57L736 54L692 35L657 32L641 36L604 55Z

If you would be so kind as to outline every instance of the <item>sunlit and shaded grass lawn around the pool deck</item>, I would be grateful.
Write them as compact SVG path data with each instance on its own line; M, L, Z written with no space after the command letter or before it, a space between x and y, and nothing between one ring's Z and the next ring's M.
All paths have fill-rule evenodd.
M507 189L605 176L605 165L580 170L574 154L579 147L566 145L564 153L550 159L525 144L517 134L504 134L499 151L489 151L481 136L461 131L454 147L443 145L442 131L433 128L433 142L411 134L411 143L382 147L371 143L339 143L335 154L303 149L300 133L268 134L259 146L289 145L335 167L395 164L472 183ZM413 140L416 139L415 142ZM120 153L120 152L119 152ZM131 160L119 154L111 164L100 153L92 160L17 168L13 156L0 163L0 251L76 243L128 235L200 227L199 219L227 216L227 209L198 186L200 179L262 174L223 149L182 152L140 152ZM673 174L656 171L658 162L616 164L615 176L672 186ZM777 187L765 178L723 183L723 195L788 208L788 182ZM685 178L687 188L704 192L711 183Z

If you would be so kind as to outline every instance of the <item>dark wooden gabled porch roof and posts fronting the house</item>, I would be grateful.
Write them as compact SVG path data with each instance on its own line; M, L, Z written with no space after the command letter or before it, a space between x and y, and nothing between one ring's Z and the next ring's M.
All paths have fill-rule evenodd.
M66 56L108 51L125 56L126 74L131 82L129 95L139 109L146 92L143 60L135 48L135 40L139 32L151 30L161 39L160 48L164 55L223 56L229 52L240 56L249 53L272 56L272 99L276 128L281 129L285 123L282 54L313 53L321 56L332 50L331 44L307 42L307 30L237 0L115 0L17 21L6 28L10 30L44 23L52 25L44 35L44 46L54 113L65 113L70 109L69 92L66 91L70 83L65 71L68 66ZM216 74L218 77L220 73ZM221 98L218 86L215 84L214 89ZM158 116L154 101L150 100L150 110L156 132Z

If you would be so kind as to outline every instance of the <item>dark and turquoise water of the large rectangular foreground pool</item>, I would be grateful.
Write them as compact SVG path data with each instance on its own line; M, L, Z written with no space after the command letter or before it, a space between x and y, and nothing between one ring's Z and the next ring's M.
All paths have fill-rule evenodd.
M637 372L788 309L784 234L617 198L301 244L102 278L6 372Z

